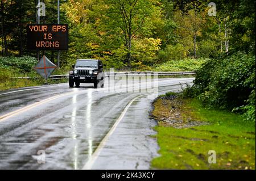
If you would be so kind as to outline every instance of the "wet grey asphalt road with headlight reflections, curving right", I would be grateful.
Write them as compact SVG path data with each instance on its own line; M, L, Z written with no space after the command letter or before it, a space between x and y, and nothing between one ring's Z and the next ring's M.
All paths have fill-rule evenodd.
M159 79L159 94L192 81ZM104 89L63 83L0 91L0 169L150 169L158 145L149 137L156 122L148 111L157 94L142 91L143 82L133 92L109 85L106 80ZM46 153L44 164L38 163L39 150Z

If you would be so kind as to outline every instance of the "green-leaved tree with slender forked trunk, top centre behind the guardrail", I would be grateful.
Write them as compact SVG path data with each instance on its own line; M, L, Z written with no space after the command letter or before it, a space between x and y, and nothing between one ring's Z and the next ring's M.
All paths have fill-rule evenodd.
M115 34L122 33L127 49L127 67L131 68L131 50L133 39L141 35L150 33L151 18L154 14L159 14L159 9L155 6L155 0L106 0L103 1L106 7L105 24L108 30Z

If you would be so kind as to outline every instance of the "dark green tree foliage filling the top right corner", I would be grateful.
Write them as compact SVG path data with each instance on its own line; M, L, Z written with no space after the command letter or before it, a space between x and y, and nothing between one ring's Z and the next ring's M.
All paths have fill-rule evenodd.
M254 52L255 50L255 1L217 0L217 16L230 30L229 51ZM225 26L225 24L224 24Z

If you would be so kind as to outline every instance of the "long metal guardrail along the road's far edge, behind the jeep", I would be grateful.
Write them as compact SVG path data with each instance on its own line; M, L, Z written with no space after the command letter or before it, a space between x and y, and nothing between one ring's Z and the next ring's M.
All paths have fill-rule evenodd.
M170 71L170 72L156 72L156 71L129 71L129 72L113 72L113 73L105 73L107 77L114 76L114 75L130 75L130 76L139 76L142 74L158 74L158 75L196 75L195 71ZM51 75L49 79L57 80L57 79L68 79L69 75ZM15 78L41 78L41 77L15 77Z

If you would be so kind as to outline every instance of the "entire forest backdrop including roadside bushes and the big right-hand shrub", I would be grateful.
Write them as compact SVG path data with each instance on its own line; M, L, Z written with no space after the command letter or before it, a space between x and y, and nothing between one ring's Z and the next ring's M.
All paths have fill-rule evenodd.
M41 2L46 4L41 23L57 23L57 1ZM214 0L216 15L210 2L60 0L60 23L69 24L69 50L61 51L60 67L97 58L118 70L195 70L188 96L255 121L255 1ZM1 0L2 87L10 85L10 69L28 72L36 63L36 51L26 48L26 26L37 22L37 3ZM56 64L56 51L42 53Z

